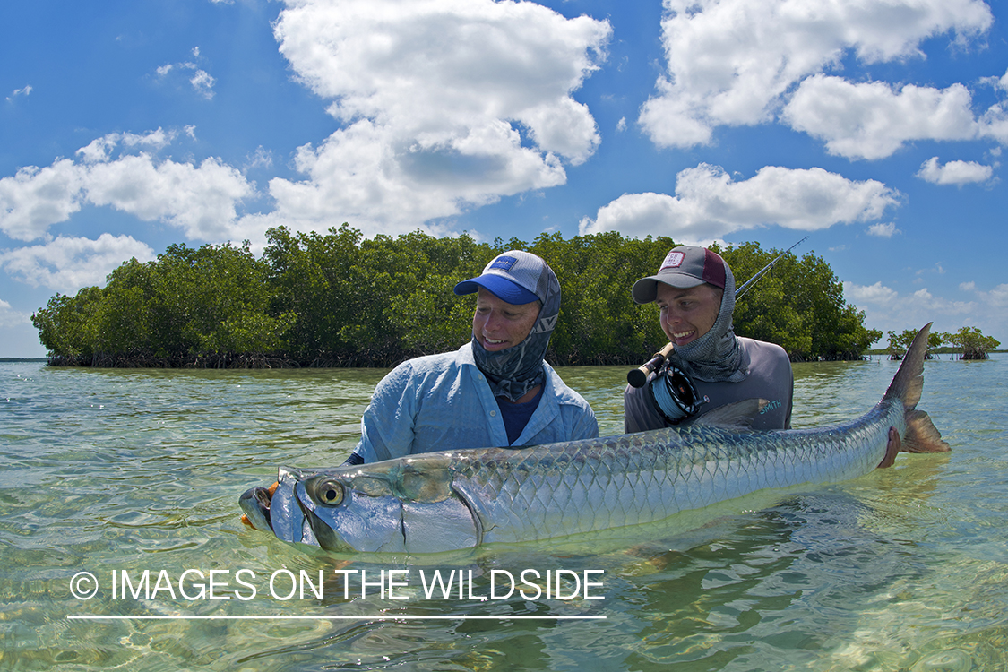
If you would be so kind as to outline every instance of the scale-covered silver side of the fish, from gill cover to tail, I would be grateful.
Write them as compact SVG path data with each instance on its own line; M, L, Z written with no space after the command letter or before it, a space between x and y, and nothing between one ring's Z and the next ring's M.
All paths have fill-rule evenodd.
M601 439L594 450L581 441L553 444L543 451L541 463L535 452L515 463L509 458L513 451L486 451L482 459L458 469L453 485L468 501L485 503L479 514L486 543L560 536L549 532L553 529L577 534L622 527L660 520L670 510L703 508L764 489L843 481L870 471L868 464L877 464L885 451L888 427L874 417L881 415L876 409L862 420L826 430L826 435L824 430L731 433L694 428L659 430L664 435L648 444L636 437ZM865 431L865 423L880 427L876 435ZM829 432L849 433L856 447L842 450L838 441L824 440ZM600 455L608 460L603 463ZM495 478L486 478L488 473Z

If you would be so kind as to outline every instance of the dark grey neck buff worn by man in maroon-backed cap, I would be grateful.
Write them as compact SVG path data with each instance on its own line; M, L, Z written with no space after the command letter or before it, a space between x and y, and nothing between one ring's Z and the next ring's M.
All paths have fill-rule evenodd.
M725 264L725 294L714 326L697 341L676 346L670 360L694 378L709 383L738 383L749 376L749 363L742 361L742 347L735 339L735 276Z

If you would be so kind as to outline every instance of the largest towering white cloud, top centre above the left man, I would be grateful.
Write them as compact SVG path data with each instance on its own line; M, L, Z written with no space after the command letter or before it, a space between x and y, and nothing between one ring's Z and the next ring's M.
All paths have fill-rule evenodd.
M608 22L529 2L289 0L275 24L296 77L346 124L299 148L265 218L400 233L502 195L561 184L600 135L571 94ZM251 221L250 221L251 226Z

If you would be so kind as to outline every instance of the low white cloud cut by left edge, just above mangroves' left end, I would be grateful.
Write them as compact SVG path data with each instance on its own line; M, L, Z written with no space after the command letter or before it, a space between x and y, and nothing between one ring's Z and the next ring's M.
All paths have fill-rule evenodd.
M81 287L104 285L106 275L133 257L150 261L154 251L130 236L59 236L44 245L0 250L0 268L33 287L74 294Z

